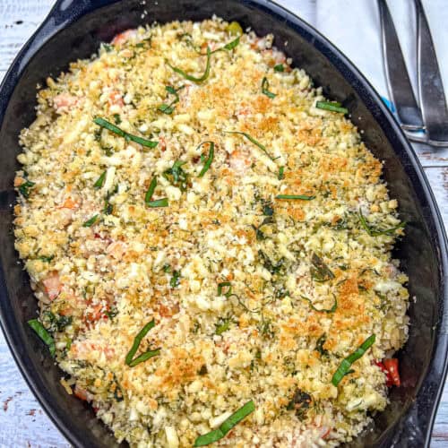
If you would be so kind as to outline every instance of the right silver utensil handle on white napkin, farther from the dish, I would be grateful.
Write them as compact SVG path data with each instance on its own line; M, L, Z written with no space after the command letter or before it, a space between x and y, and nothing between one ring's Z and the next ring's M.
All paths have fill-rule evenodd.
M420 0L415 0L415 4L418 17L418 93L427 142L445 146L448 145L448 109L444 84L423 4Z

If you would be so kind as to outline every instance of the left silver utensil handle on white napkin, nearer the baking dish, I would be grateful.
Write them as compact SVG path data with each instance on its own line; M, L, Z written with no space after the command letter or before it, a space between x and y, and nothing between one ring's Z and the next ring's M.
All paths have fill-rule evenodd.
M378 8L382 29L384 71L389 95L397 109L401 127L409 130L423 129L423 118L414 90L412 90L392 15L385 0L378 0Z

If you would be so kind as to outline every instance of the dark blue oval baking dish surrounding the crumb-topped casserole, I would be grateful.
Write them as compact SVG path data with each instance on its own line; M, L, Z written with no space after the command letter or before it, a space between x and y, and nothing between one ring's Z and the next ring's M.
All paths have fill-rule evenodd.
M69 396L61 371L26 321L37 304L13 246L14 172L18 134L35 113L36 86L70 61L90 56L99 42L148 22L202 19L217 14L273 33L275 45L349 108L366 146L384 161L384 178L400 201L406 237L396 249L409 275L409 340L399 353L402 386L352 446L428 446L446 374L447 244L435 199L418 159L382 100L349 62L316 30L268 0L58 0L22 48L0 88L0 317L4 335L30 389L75 446L112 447L116 441L93 411Z

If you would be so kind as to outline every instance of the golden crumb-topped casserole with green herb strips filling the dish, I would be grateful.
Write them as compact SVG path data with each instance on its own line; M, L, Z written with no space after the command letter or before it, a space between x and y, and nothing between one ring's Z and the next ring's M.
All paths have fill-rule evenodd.
M39 88L30 326L131 446L335 446L400 385L404 235L339 103L237 22L126 30Z

